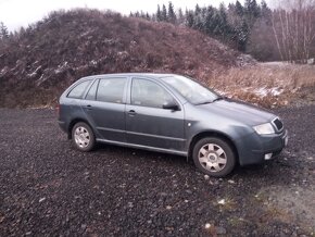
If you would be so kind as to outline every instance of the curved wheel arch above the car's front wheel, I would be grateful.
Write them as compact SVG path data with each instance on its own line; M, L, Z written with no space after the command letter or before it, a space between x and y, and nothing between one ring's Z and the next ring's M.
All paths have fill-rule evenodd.
M239 152L238 152L238 149L237 149L235 142L232 141L232 139L228 135L220 133L220 132L216 132L216 130L205 130L205 132L201 132L201 133L194 135L189 144L188 159L192 159L192 152L193 152L194 145L199 140L206 138L206 137L220 138L224 141L226 141L231 147L231 149L236 155L237 163L239 163Z

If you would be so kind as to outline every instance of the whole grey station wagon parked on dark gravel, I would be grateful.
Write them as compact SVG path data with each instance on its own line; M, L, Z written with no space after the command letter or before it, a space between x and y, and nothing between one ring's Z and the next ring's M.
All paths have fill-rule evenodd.
M270 160L288 142L278 116L173 74L85 77L63 92L59 110L80 151L105 142L179 154L216 177Z

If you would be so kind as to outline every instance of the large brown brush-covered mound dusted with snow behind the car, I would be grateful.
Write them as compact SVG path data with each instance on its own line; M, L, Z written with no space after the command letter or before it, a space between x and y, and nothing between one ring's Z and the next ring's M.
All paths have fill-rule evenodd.
M241 60L186 27L97 10L53 12L0 43L0 104L52 104L70 84L93 74L173 72L206 80Z

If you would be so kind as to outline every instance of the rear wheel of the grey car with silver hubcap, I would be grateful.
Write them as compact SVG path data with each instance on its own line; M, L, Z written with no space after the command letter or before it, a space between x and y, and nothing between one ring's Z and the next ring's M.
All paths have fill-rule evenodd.
M91 127L79 122L72 129L72 140L76 149L87 152L91 151L96 146L96 136Z

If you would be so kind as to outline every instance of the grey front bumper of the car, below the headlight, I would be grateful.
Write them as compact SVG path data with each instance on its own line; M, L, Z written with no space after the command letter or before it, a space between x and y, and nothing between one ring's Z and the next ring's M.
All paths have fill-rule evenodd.
M277 157L288 145L288 130L261 136L253 133L237 142L240 165L257 164Z

